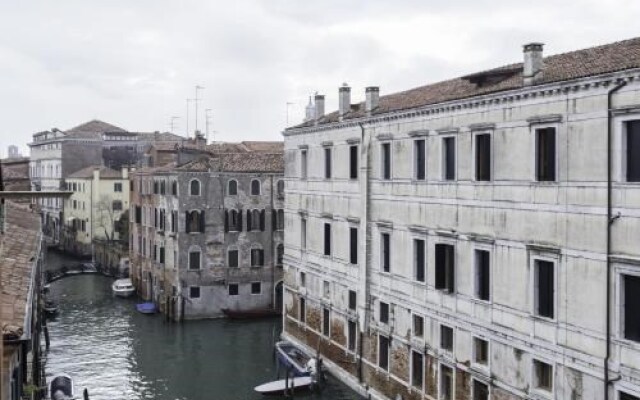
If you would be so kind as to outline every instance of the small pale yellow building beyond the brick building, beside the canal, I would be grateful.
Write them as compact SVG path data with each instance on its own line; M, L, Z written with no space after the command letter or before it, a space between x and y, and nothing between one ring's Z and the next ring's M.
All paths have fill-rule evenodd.
M118 223L129 209L127 168L87 167L71 174L66 186L73 192L64 204L62 243L67 250L89 255L94 240L121 239Z

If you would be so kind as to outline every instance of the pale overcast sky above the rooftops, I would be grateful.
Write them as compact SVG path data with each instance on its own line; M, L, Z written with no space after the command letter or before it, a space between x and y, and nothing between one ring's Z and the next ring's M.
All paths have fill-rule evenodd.
M638 15L637 0L2 1L0 152L95 118L151 132L177 116L185 134L195 85L202 131L210 108L216 140L280 140L315 91L330 111L343 82L356 102L518 62L531 41L632 38Z

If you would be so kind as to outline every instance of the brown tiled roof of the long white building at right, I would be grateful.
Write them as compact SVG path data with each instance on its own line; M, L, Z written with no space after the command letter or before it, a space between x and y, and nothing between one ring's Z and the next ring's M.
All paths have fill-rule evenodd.
M545 57L543 76L535 85L562 82L634 68L640 68L640 38ZM372 114L384 114L505 90L519 89L524 86L522 70L523 63L510 64L381 96L379 106ZM359 103L352 105L351 112L344 115L343 119L362 118L365 115L364 103ZM322 125L338 121L339 114L334 111L322 117L318 123ZM311 120L288 129L309 127L313 126L314 123L315 121Z

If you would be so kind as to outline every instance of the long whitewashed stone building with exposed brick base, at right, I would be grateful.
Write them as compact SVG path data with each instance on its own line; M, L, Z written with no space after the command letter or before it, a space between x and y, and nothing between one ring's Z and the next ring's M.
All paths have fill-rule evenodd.
M316 96L284 336L372 398L640 399L639 81L640 38Z

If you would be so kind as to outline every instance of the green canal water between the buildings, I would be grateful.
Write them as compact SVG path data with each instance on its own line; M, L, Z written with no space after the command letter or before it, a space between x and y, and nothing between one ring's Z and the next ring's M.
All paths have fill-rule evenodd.
M91 400L263 398L253 388L276 378L279 319L165 322L135 311L135 299L113 297L112 281L79 275L51 284L60 314L49 321L48 378L71 375L76 395L87 388ZM296 398L359 397L329 377L322 392Z

